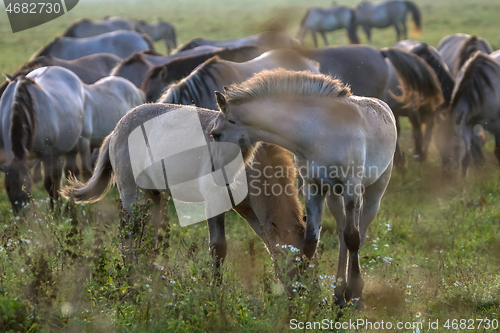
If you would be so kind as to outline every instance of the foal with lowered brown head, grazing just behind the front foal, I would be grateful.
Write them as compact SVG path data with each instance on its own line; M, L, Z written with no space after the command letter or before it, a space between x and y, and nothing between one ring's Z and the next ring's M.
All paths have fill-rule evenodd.
M128 140L132 131L154 118L159 119L162 115L179 110L188 109L196 111L204 132L205 141L213 142L210 131L214 126L218 112L195 108L193 106L178 106L168 104L145 104L129 113L117 124L114 131L105 139L99 154L99 158L92 178L82 184L76 180L70 181L69 185L62 190L65 197L74 198L76 203L93 203L104 197L109 188L116 183L120 193L123 207L128 212L128 218L133 216L133 204L143 198L151 198L155 205L152 211L152 221L155 225L155 234L158 232L160 223L160 191L145 188L138 191L132 161L129 153ZM182 112L187 112L183 110ZM171 118L170 118L171 119ZM154 128L148 130L150 142L163 142L171 144L167 129L175 124L168 121L156 122ZM246 144L242 144L245 148ZM290 248L293 246L302 250L304 245L305 225L302 216L302 207L297 197L295 187L295 168L289 154L282 148L274 145L262 145L255 151L244 150L245 154L254 155L254 163L246 165L245 172L249 184L249 194L241 203L234 206L234 210L240 214L252 227L255 233L262 239L273 259L284 260ZM199 164L199 163L198 163ZM207 163L205 163L207 164ZM192 168L210 168L209 165L191 165ZM267 168L268 173L264 170ZM277 177L274 171L292 170L285 172L283 176ZM188 168L189 169L189 168ZM270 174L265 177L264 174ZM199 178L201 179L201 178ZM288 189L288 192L269 193L264 191L263 185L267 181L270 186L279 186ZM253 182L253 183L251 183ZM170 188L163 190L167 197L171 197ZM216 276L220 265L223 263L227 253L227 242L224 228L224 214L208 219L210 233L210 250L216 259ZM286 247L286 248L285 248ZM293 268L292 261L288 262L291 268L288 272L289 281L296 277L297 269ZM290 285L286 290L292 294Z

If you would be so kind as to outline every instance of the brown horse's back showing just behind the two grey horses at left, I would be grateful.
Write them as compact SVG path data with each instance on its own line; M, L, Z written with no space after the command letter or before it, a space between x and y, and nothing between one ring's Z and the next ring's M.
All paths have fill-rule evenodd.
M84 83L92 84L97 80L108 76L108 73L122 59L109 53L97 53L81 57L75 60L62 60L52 56L41 56L24 64L14 74L7 75L8 79L0 85L0 97L10 81L13 81L20 75L26 75L29 72L46 66L64 67L78 75Z

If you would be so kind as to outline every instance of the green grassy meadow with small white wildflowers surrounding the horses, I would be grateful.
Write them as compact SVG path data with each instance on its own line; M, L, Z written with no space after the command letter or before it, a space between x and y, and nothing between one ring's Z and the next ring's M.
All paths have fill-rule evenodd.
M422 41L436 46L443 36L463 32L486 38L494 50L500 47L498 0L415 2L423 12ZM156 21L161 17L176 26L183 43L195 37L237 38L270 27L295 35L312 3L84 0L61 18L16 34L0 5L0 71L13 72L80 18L112 15ZM314 2L330 4L330 0ZM373 38L374 46L388 47L395 41L395 31L375 30ZM347 43L340 31L331 33L329 40ZM307 41L312 44L310 37ZM165 51L161 43L157 48ZM159 248L152 249L149 237L138 241L139 265L130 267L122 262L118 248L121 215L116 189L97 204L70 205L64 213L54 213L40 183L26 217L15 217L2 179L0 332L281 332L291 330L291 319L422 322L420 332L456 332L466 331L461 319L499 320L500 170L492 140L485 147L486 165L453 184L443 179L434 146L426 163L411 158L407 123L402 146L407 170L393 173L361 250L363 312L348 307L340 313L333 304L338 242L329 212L314 268L304 277L308 292L290 301L262 241L234 212L226 214L228 256L218 286L212 278L206 224L181 228L172 204L170 225L161 231ZM147 220L144 216L142 221ZM448 319L449 328L444 326ZM458 319L456 328L453 319ZM436 320L439 329L429 330L429 321ZM471 332L494 331L479 323L475 321L472 328L468 321L465 327Z

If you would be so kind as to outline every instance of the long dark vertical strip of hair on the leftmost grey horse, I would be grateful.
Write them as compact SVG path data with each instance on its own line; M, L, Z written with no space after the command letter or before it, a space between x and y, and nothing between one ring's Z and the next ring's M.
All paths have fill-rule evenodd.
M24 160L33 147L36 132L36 113L28 86L35 84L24 75L17 81L12 102L10 140L12 152L19 160Z

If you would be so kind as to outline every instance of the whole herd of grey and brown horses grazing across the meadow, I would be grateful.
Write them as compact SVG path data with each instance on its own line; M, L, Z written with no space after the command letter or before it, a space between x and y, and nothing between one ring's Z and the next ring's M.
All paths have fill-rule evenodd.
M374 17L381 16L381 6L391 8L386 10L391 15L412 11L409 2L392 2L363 3L350 15L362 17L363 7L372 8ZM306 18L311 16L313 10ZM376 26L370 22L367 27ZM405 164L399 118L410 119L420 161L436 127L446 172L461 167L465 175L471 162L483 162L483 129L495 136L500 160L500 53L477 36L446 36L437 48L404 40L383 50L363 45L309 50L288 35L264 32L225 41L195 39L162 55L152 40L176 46L175 30L162 21L82 20L65 35L0 86L0 169L15 213L31 200L37 177L30 169L43 166L52 207L60 194L76 203L96 202L116 184L127 218L138 200L153 200L157 235L165 213L161 193L136 184L128 140L137 127L183 105L198 113L208 143L240 147L246 177L259 185L250 187L234 210L274 260L291 258L277 271L287 281L296 281L307 267L297 259L315 254L326 201L340 244L336 302L355 300L362 308L359 250L393 164L401 169ZM168 126L156 126L148 140L165 142ZM292 168L298 175L263 172L269 167ZM332 167L362 172L325 171ZM368 172L372 169L376 172ZM61 189L63 174L68 179ZM303 182L305 216L296 178ZM293 190L269 195L259 188L266 182ZM338 185L363 191L332 190ZM172 196L168 188L163 192ZM227 252L224 225L224 214L208 219L216 271ZM290 257L290 247L299 257ZM294 287L285 288L293 296Z

